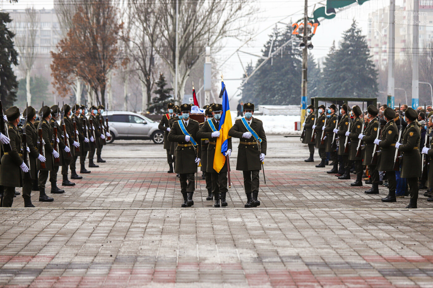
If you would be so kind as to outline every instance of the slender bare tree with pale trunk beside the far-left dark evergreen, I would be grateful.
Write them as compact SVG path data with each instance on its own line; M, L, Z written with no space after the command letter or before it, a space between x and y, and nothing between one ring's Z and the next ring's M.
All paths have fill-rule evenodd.
M20 66L26 71L27 102L31 105L30 74L36 60L36 34L38 32L38 14L34 7L26 8L22 17L14 19L13 32L16 34L15 47L20 54Z

